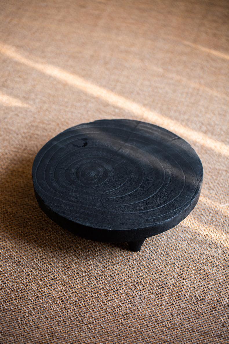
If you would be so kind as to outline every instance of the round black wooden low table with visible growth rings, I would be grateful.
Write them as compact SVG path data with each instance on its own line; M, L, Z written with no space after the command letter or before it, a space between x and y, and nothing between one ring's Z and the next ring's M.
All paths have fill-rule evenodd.
M190 144L126 119L69 128L33 163L37 201L53 221L84 238L127 241L135 251L193 210L202 181L202 163Z

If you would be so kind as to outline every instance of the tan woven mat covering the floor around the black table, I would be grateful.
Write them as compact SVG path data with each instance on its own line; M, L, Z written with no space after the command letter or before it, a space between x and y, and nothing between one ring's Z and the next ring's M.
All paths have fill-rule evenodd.
M0 343L229 342L229 2L0 2ZM191 143L201 197L176 228L104 244L39 209L38 150L128 118Z

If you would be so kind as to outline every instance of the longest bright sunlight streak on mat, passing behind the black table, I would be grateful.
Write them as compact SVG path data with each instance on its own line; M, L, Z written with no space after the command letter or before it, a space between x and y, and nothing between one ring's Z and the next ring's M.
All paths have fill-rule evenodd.
M195 141L204 147L210 148L221 155L229 157L229 146L220 141L209 138L206 134L200 131L183 126L179 121L160 115L156 111L152 111L133 100L118 95L104 87L93 84L82 77L65 71L64 69L47 63L34 62L24 57L20 52L18 52L18 49L8 44L0 43L0 52L20 63L35 68L42 73L61 80L62 82L68 83L84 93L106 101L115 107L132 112L139 116L139 120L149 121L176 133L186 140Z

